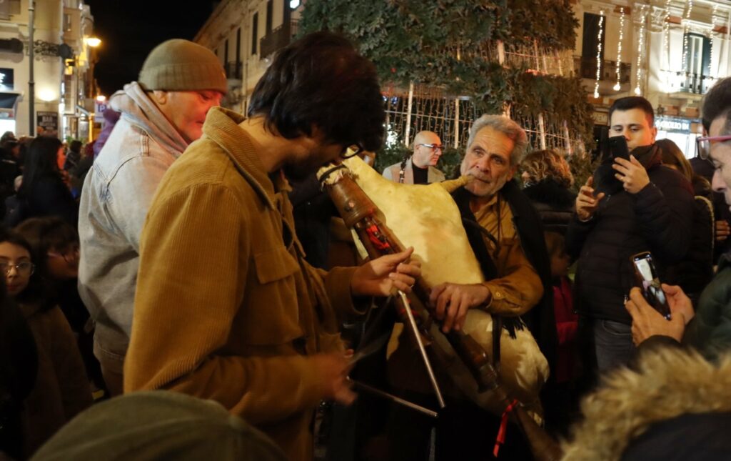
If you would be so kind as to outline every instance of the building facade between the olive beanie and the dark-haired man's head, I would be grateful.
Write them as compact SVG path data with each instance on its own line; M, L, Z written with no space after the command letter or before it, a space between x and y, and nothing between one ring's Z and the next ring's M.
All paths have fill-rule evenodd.
M213 50L224 65L229 91L222 102L246 113L251 91L276 50L292 40L302 8L299 0L223 0L194 42Z

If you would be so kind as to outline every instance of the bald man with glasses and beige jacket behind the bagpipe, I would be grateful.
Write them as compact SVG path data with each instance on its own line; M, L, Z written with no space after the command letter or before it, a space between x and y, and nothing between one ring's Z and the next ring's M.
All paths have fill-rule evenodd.
M444 154L442 140L435 132L420 131L414 136L414 152L383 170L383 177L403 184L430 184L444 181L444 173L436 169Z

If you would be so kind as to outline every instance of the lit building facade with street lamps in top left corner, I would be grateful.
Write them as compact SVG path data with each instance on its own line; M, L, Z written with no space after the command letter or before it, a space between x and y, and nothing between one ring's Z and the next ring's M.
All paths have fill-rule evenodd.
M0 132L90 138L96 96L96 57L88 44L93 31L94 18L83 0L0 2Z

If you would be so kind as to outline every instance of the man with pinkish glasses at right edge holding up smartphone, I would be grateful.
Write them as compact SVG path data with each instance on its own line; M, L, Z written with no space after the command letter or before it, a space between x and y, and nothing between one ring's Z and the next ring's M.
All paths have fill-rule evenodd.
M703 123L708 136L697 138L698 156L713 163L713 190L724 194L731 205L731 78L719 80L703 97ZM700 296L697 307L680 287L662 285L672 317L665 320L633 289L626 303L632 316L632 338L636 345L683 342L707 359L731 350L731 258L721 256L716 276ZM691 322L692 320L692 322Z

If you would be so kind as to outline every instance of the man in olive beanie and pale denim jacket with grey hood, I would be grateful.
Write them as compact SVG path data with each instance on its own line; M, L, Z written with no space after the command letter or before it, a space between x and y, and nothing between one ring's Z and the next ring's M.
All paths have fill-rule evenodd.
M84 181L79 293L96 322L94 354L112 395L122 390L148 206L167 168L200 138L208 110L226 90L216 55L175 39L154 48L137 81L110 98L121 117Z

